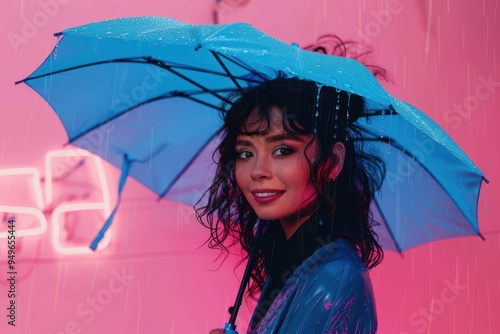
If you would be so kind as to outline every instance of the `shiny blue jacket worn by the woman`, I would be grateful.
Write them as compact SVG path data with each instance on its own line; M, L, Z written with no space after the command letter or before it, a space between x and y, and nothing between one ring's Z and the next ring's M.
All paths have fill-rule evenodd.
M318 249L295 270L264 318L248 333L365 334L376 330L368 273L355 248L339 239Z

